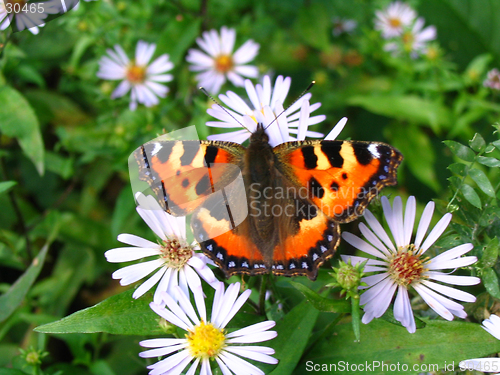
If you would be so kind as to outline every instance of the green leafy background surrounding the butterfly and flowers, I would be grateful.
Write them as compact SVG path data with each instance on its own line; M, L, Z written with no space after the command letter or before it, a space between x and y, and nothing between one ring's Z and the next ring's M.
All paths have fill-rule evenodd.
M237 46L247 39L260 44L262 74L292 77L290 100L316 81L311 102L322 103L317 113L327 121L312 130L326 134L347 116L341 139L397 147L405 157L399 185L383 193L415 195L420 211L434 199L441 214L453 212L453 231L438 248L472 242L480 261L463 273L483 280L464 288L477 296L466 306L468 322L444 322L419 304L417 333L385 316L362 325L355 343L349 302L321 299L327 268L314 283L276 278L267 318L278 322L269 345L280 364L261 368L302 374L307 361L365 360L443 368L499 352L500 341L477 323L498 311L500 298L500 141L492 126L500 104L498 92L482 85L500 66L500 3L409 3L438 32L418 59L383 51L373 19L389 4L384 0L98 0L82 2L38 36L0 31L0 374L146 373L138 342L162 332L147 306L151 298L131 307L132 292L111 280L118 265L103 253L118 246L119 233L152 239L135 212L131 152L187 125L202 138L209 134L211 101L198 91L185 55L202 31L223 25L237 30ZM334 16L359 26L334 38ZM107 48L120 44L132 55L138 40L156 43L155 56L170 55L175 78L158 106L131 112L127 98L110 99L116 84L96 72ZM244 93L229 84L226 90ZM371 209L381 211L378 202ZM353 249L342 243L338 251ZM247 280L250 288L257 284ZM235 327L265 319L245 309ZM49 354L32 366L20 348Z

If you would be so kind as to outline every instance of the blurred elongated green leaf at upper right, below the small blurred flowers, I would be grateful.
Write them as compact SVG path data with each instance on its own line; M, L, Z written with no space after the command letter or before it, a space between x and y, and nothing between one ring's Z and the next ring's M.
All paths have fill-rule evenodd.
M347 103L379 115L413 124L428 125L436 133L441 128L448 127L451 121L448 108L436 101L414 95L353 96Z

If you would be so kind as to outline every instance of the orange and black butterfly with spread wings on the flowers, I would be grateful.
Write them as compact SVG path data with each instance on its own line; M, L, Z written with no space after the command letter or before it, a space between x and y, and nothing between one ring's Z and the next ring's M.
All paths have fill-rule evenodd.
M192 213L203 252L227 277L305 275L340 243L340 225L395 185L403 157L377 142L306 140L272 147L263 125L248 147L225 141L156 141L134 152L139 178L162 208Z

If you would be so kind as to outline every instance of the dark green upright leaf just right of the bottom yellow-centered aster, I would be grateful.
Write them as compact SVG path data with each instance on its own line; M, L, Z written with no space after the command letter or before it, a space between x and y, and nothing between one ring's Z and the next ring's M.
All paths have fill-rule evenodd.
M306 348L318 314L318 310L311 309L307 301L303 301L276 325L275 330L279 335L271 344L280 362L271 375L289 375L293 372Z

